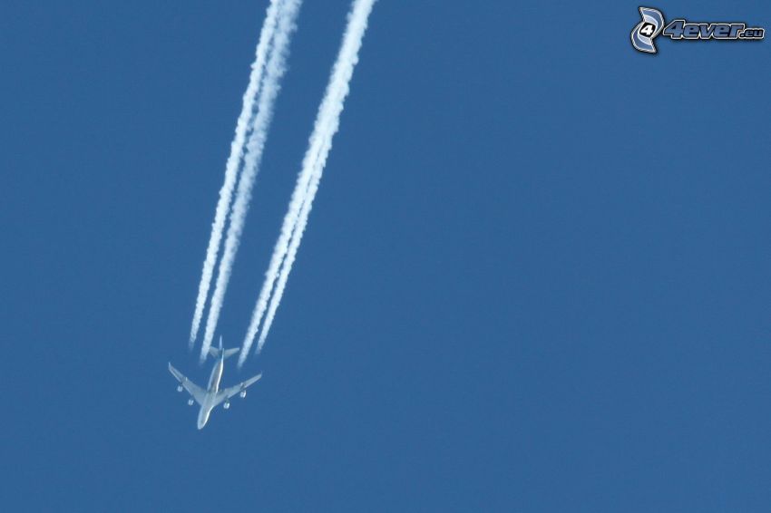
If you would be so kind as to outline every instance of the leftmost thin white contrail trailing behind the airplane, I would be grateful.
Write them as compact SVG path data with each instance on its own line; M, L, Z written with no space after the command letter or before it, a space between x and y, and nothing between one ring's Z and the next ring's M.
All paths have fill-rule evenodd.
M236 179L238 178L239 162L243 153L244 140L246 140L246 134L249 129L249 121L251 121L254 115L255 99L265 71L265 61L270 46L273 43L273 35L276 33L278 8L282 3L283 0L271 0L270 5L268 5L265 22L262 24L262 30L259 33L255 60L251 65L249 86L246 92L244 92L243 106L241 107L239 120L236 122L236 134L232 142L230 142L230 155L225 164L225 181L220 189L220 199L217 201L214 221L211 223L209 247L206 248L206 258L203 261L203 270L201 271L200 284L198 286L198 297L195 301L195 313L193 314L192 326L190 327L190 349L192 349L195 339L198 337L200 318L203 315L203 308L209 295L211 276L214 274L214 266L217 263L217 254L220 252L222 232L225 229L225 218L230 208L230 200L233 196L233 189L236 186Z

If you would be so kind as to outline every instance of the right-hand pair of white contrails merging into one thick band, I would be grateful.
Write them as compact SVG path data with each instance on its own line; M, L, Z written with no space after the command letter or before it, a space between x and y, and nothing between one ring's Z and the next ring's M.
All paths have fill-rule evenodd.
M272 297L270 297L268 315L259 335L258 352L265 344L270 324L273 323L273 318L276 315L278 304L287 285L289 272L292 270L292 264L297 256L298 247L307 226L307 218L313 205L313 199L316 197L318 183L327 163L329 150L332 148L332 138L340 124L340 113L343 111L349 91L349 83L354 73L354 67L358 62L358 51L361 48L362 38L366 32L367 19L372 12L375 2L376 0L355 0L348 14L348 23L343 36L343 43L337 54L337 61L332 68L324 100L322 100L318 108L313 132L308 139L308 149L303 158L298 182L292 193L288 212L284 218L276 247L273 250L273 256L270 258L265 282L260 290L258 302L252 314L243 348L239 355L239 366L243 365L246 361L251 344L254 343L254 337L257 334L262 316L265 314L268 297L270 297L274 283L276 284L276 290L273 292ZM283 265L281 265L282 261ZM280 274L278 274L279 266ZM278 283L276 282L277 278Z

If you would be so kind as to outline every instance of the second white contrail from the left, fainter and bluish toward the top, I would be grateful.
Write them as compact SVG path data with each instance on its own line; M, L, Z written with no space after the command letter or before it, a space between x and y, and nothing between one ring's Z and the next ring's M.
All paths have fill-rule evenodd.
M247 152L244 157L244 167L239 178L236 199L230 211L230 224L228 235L225 239L225 248L222 252L222 259L220 260L217 284L214 287L214 294L211 295L209 316L206 320L206 330L200 349L201 362L206 359L206 354L209 352L211 339L214 337L214 330L220 317L225 291L228 287L244 222L249 211L251 189L259 172L262 150L265 147L268 127L273 117L273 104L276 102L278 90L280 89L280 79L286 71L289 40L296 28L295 21L301 4L302 0L285 0L280 5L278 27L274 36L273 48L266 66L266 76L259 91L258 113L247 144Z

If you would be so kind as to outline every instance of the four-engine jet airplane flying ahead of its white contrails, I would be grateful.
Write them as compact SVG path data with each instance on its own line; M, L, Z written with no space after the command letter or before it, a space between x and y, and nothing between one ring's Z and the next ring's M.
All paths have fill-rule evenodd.
M211 411L214 410L214 408L216 408L221 402L225 403L223 405L225 410L229 409L231 397L238 393L243 399L247 396L247 387L249 387L249 385L252 383L257 382L259 378L262 377L262 373L259 373L258 375L249 378L245 382L240 382L236 386L231 386L230 388L223 388L220 390L220 379L222 378L222 368L225 366L225 359L238 352L238 347L234 347L233 349L223 349L221 336L220 347L209 348L209 353L211 356L216 358L217 361L214 363L214 368L211 369L209 386L206 389L203 389L194 382L191 382L180 371L175 369L174 366L171 365L171 362L169 362L169 371L175 378L177 378L177 381L180 382L180 385L177 387L177 392L186 390L190 393L191 397L188 399L188 404L190 406L192 406L194 402L198 402L200 404L200 411L198 412L199 430L203 429L203 426L205 426L206 422L209 421L209 415Z

